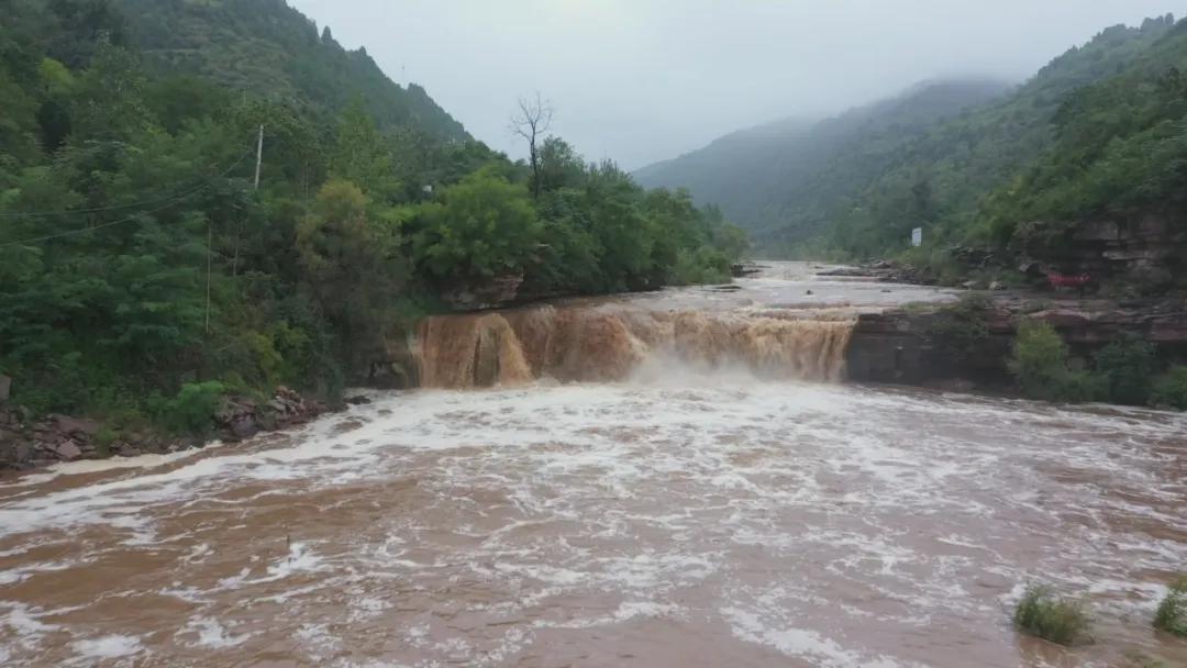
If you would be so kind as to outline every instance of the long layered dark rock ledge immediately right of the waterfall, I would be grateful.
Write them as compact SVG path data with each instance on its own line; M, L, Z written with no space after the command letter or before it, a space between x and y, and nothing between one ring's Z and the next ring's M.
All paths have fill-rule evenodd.
M976 318L946 310L862 316L849 346L849 380L903 384L961 380L1004 387L1013 382L1005 363L1024 319L1050 323L1083 360L1131 332L1156 344L1163 361L1187 362L1187 300L1049 304L1015 298Z

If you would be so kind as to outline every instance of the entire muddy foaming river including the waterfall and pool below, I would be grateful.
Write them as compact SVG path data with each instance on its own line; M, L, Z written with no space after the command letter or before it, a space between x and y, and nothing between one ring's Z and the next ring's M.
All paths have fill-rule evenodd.
M948 295L740 284L430 322L442 389L0 483L0 664L1187 666L1187 420L838 384L855 312ZM1032 580L1096 643L1017 636Z

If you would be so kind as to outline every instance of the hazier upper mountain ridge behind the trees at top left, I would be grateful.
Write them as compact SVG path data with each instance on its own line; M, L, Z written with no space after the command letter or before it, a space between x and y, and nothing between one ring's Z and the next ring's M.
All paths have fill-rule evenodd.
M326 121L362 97L380 129L415 127L447 141L465 128L417 85L394 83L366 49L348 51L329 27L285 0L115 0L129 38L154 66L209 78Z

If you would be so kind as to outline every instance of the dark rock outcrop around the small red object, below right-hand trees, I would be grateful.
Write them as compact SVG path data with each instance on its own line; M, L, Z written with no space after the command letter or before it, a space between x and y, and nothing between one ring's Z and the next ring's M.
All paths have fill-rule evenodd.
M1032 234L1027 229L1035 230ZM1157 292L1187 272L1187 225L1169 216L1024 225L1011 250L1029 272L1086 273Z

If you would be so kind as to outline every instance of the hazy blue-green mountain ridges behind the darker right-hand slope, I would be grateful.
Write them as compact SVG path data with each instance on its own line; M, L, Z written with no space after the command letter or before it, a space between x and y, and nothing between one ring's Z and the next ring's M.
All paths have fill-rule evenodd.
M1170 15L1112 26L1021 85L928 82L807 129L734 133L635 176L718 204L767 255L882 253L912 227L971 225L983 198L1053 145L1073 91L1149 61L1173 26Z

